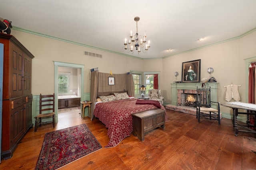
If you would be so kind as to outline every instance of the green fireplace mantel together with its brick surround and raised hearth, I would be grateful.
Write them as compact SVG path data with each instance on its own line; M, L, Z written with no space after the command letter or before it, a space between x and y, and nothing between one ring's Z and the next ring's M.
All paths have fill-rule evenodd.
M218 83L205 83L206 88L211 87L211 100L212 101L217 101L217 88L218 88L217 85L218 85ZM202 83L174 83L174 84L172 84L172 104L166 105L166 109L196 115L196 108L181 106L182 93L196 94L196 87L202 88Z

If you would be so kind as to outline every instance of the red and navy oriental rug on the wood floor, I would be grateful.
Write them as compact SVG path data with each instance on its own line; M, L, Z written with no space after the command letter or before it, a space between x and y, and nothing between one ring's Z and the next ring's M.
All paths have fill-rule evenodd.
M46 133L36 170L56 170L102 146L85 124Z

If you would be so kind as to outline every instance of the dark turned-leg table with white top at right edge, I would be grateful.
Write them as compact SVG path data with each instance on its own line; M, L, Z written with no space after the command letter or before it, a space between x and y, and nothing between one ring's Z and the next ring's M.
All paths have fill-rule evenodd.
M248 127L256 127L255 123L254 123L254 125L252 125L252 124L250 124L250 121L249 121L249 115L256 115L256 109L252 109L250 107L239 106L239 105L235 105L235 104L229 104L229 103L222 103L221 105L231 107L233 109L233 127L234 127L234 132L235 132L236 136L238 136L238 131L256 133L256 131L248 128ZM238 109L244 109L244 110L247 110L247 112L239 112ZM251 113L251 112L253 112L253 113ZM239 125L237 123L238 114L247 115L246 125ZM238 125L241 126L241 127L246 128L248 130L247 131L246 130L239 130L238 127L237 127Z

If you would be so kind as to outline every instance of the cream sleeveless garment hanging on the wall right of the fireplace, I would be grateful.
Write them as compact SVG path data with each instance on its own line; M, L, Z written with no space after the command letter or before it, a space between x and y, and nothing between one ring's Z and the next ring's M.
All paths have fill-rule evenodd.
M241 87L241 85L234 85L233 83L231 83L228 86L224 86L227 88L226 90L226 101L230 101L232 100L232 98L236 101L239 102L241 100L240 98L240 94L238 92L238 87Z

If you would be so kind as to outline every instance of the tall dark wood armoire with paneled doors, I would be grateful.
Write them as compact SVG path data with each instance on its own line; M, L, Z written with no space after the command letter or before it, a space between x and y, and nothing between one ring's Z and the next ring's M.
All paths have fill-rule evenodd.
M4 44L2 153L8 159L33 127L31 68L34 56L12 35L0 33Z

